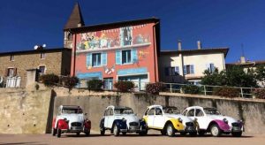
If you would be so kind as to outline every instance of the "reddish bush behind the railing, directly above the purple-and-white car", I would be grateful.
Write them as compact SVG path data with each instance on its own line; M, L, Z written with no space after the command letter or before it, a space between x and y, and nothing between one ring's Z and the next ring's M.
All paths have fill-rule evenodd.
M220 95L225 97L239 97L239 89L238 88L215 88L213 95Z

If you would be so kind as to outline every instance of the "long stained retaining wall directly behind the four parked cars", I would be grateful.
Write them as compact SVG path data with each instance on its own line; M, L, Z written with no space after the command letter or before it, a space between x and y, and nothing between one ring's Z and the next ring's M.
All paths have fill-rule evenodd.
M64 92L64 94L62 94ZM87 94L87 95L86 95ZM265 134L265 101L246 99L226 99L218 96L168 94L91 94L88 92L57 93L54 103L54 117L60 104L80 105L88 118L92 121L92 129L99 131L99 122L103 111L108 105L122 105L132 107L141 118L148 105L162 104L177 106L180 111L192 105L216 107L224 115L239 118L246 123L247 134Z

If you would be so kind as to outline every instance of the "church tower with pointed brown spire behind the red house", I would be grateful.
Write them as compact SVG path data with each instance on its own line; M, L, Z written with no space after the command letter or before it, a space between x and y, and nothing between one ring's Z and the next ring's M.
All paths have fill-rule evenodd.
M72 33L71 28L83 27L85 22L82 17L82 13L79 8L79 4L75 4L72 13L64 26L64 48L72 49Z

